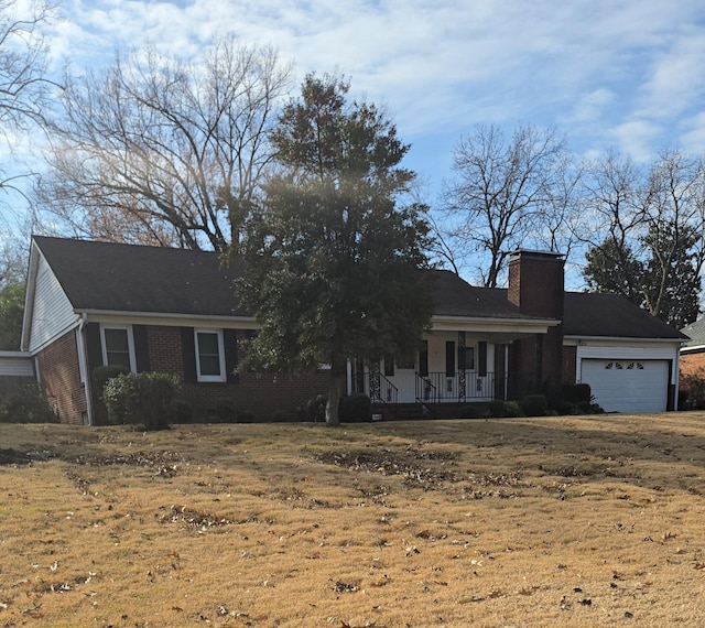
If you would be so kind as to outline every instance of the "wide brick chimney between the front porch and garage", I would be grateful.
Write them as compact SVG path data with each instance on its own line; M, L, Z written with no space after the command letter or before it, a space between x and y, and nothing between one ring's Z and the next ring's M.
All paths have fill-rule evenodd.
M563 321L563 256L520 250L509 259L507 299L527 316ZM546 391L562 381L563 325L514 343L512 369ZM549 390L550 391L550 390Z

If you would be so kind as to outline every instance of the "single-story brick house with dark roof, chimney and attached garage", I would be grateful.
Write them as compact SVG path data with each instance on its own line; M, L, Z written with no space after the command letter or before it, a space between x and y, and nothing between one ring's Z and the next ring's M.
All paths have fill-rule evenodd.
M325 368L238 372L240 342L258 327L234 290L238 270L213 252L34 237L21 348L62 420L94 423L100 365L174 373L206 414L229 400L260 418L293 415L324 392ZM427 408L583 381L608 411L674 408L685 336L623 297L564 292L561 256L519 251L508 289L431 272L435 314L413 361L351 357L348 391Z

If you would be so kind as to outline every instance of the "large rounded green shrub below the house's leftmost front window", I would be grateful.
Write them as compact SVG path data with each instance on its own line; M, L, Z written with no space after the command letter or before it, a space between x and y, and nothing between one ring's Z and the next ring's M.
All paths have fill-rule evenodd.
M141 423L145 430L165 430L178 381L162 372L127 373L106 383L102 398L113 423Z

